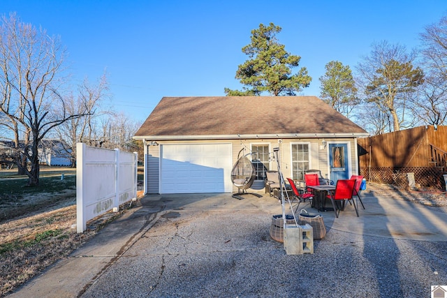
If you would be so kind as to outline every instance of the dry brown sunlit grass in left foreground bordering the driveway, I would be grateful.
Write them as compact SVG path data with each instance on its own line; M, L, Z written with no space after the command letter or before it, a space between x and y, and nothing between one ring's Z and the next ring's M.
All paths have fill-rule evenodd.
M1 223L0 297L65 258L123 212L94 218L83 233L76 232L74 204Z

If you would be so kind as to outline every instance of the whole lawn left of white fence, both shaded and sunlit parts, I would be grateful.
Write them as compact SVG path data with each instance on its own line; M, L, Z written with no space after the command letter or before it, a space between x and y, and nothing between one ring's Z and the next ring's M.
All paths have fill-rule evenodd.
M57 177L47 178L54 179L53 184L59 184L56 190L47 188L41 193L17 190L13 194L0 190L0 297L8 295L57 260L66 258L126 211L121 209L118 213L109 212L94 218L87 223L87 231L77 233L74 182L61 184L60 171L57 170ZM5 173L2 171L1 174ZM66 180L70 183L70 177ZM6 185L6 180L0 183Z

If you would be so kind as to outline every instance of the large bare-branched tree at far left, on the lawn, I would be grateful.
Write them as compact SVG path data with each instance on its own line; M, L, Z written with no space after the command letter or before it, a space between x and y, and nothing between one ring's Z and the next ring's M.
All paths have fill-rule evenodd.
M15 163L29 177L29 186L39 184L38 147L43 137L82 116L70 114L57 93L65 52L59 38L45 30L20 22L15 14L1 17L0 113L9 119L17 149Z

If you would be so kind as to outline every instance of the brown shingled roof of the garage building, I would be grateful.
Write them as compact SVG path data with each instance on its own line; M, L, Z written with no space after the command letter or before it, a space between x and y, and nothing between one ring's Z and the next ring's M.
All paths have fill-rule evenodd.
M315 96L163 97L135 137L352 133L367 135Z

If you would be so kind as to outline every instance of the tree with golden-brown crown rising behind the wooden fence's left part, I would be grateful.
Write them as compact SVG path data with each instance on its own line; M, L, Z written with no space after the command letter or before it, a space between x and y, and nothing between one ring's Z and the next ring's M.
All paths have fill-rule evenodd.
M409 119L409 98L424 81L423 70L413 67L414 59L415 52L408 54L405 47L383 41L374 44L369 56L358 65L358 82L365 100L390 115L391 131L399 131L405 123L411 126L414 121Z

